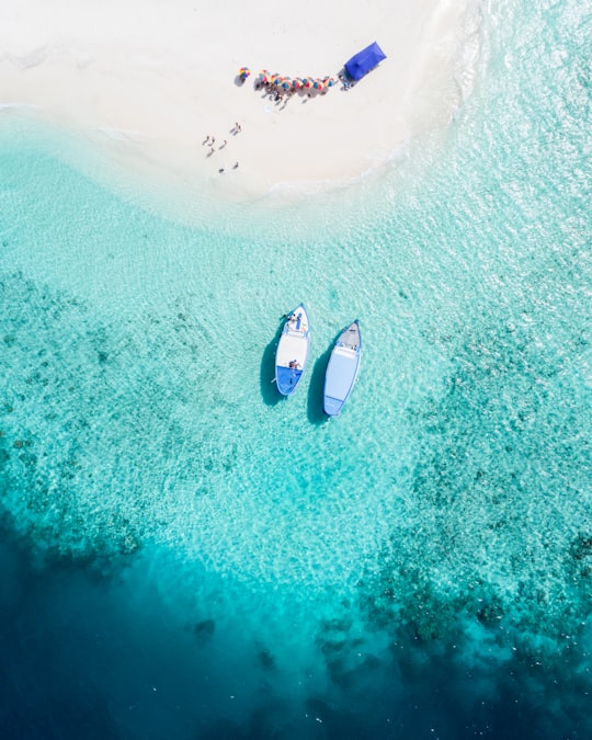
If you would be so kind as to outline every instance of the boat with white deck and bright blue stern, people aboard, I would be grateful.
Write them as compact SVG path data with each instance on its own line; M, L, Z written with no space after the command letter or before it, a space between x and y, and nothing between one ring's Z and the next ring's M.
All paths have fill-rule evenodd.
M310 329L304 304L295 308L284 325L275 353L275 383L282 396L296 390L308 360Z

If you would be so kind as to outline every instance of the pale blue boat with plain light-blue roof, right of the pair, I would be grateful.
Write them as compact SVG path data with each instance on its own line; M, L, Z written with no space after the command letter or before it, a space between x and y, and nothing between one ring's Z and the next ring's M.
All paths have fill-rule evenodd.
M339 417L350 398L362 358L362 335L357 319L340 335L331 351L325 376L323 408L329 417Z

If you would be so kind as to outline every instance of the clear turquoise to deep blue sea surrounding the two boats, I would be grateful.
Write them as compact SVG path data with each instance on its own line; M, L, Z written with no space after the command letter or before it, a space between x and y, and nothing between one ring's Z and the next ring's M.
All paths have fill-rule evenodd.
M590 737L592 22L480 10L444 137L273 215L173 218L4 112L5 737Z

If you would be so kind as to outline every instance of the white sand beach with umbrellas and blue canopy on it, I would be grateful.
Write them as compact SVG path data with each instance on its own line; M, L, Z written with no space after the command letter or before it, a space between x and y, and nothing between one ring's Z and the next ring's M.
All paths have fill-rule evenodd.
M35 106L136 174L215 197L315 192L451 121L466 11L466 0L20 0L0 24L0 106ZM284 104L253 87L261 69L335 75L374 41L386 60L348 91Z

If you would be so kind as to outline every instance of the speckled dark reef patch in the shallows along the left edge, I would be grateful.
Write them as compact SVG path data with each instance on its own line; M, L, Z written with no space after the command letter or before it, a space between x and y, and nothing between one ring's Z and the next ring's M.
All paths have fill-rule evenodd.
M79 298L21 273L3 275L0 300L2 501L47 557L129 556L167 521L162 489L174 496L164 483L171 466L181 487L193 485L202 466L232 470L232 445L217 453L196 435L178 453L185 412L207 406L224 413L202 398L210 391L200 384L208 369L198 348L208 337L191 318L191 298L156 325L144 317L146 332L107 325ZM162 353L168 362L152 373L151 358Z

